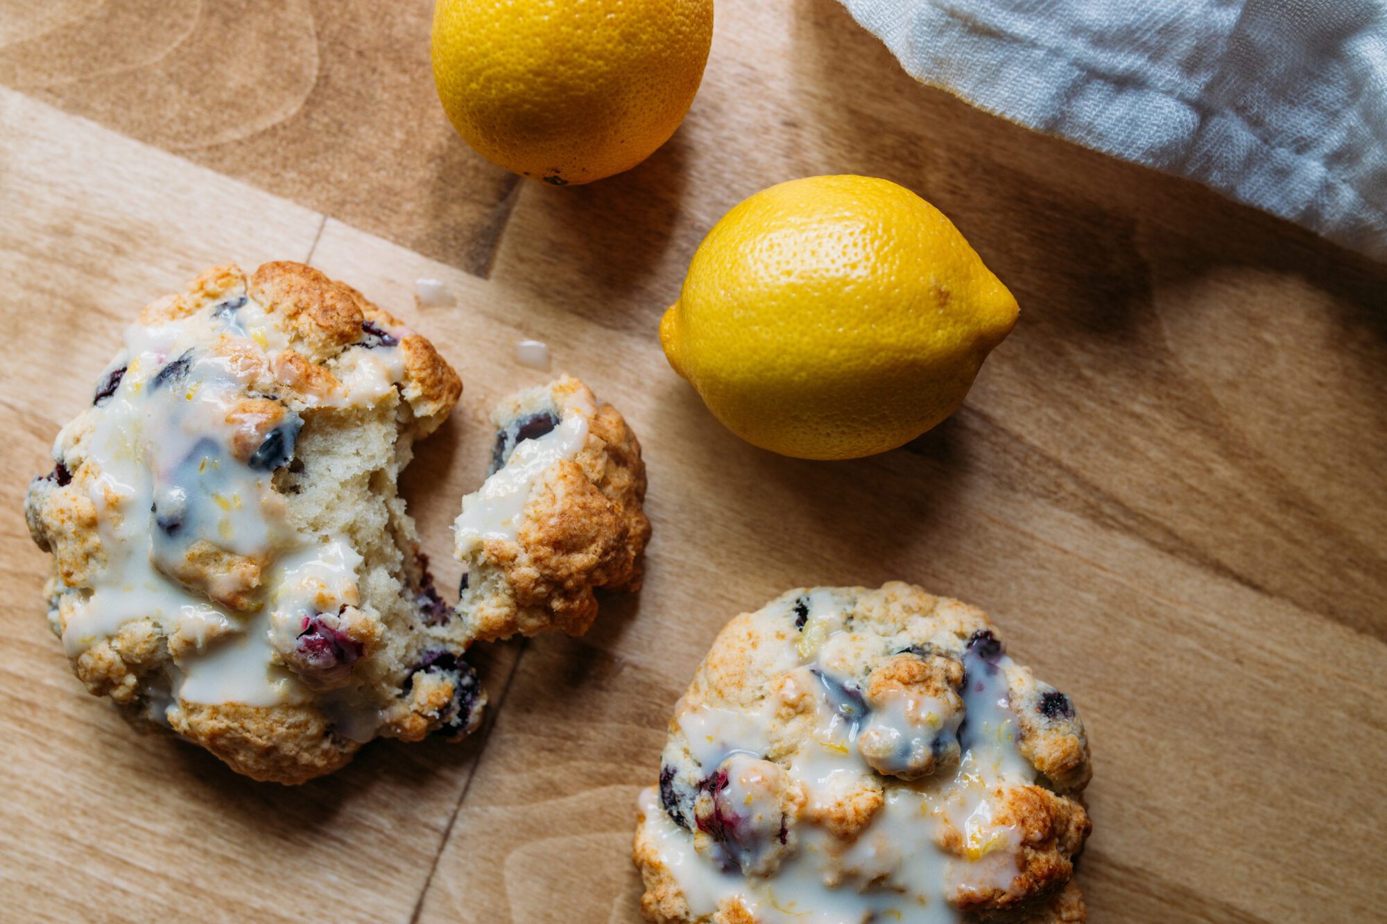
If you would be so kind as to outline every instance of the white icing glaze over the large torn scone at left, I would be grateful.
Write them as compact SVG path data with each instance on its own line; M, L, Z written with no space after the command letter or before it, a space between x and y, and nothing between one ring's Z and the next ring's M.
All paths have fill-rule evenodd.
M398 344L405 333L390 336ZM255 393L254 377L287 348L287 336L250 298L225 312L126 329L119 357L126 372L115 393L58 436L61 448L80 436L74 427L90 427L86 455L100 470L89 497L104 565L92 591L65 608L69 656L148 617L169 638L169 685L180 701L273 706L307 696L275 651L276 616L358 602L361 558L345 540L319 541L290 526L270 484L275 465L236 458L237 423L227 419ZM239 361L229 355L236 351L264 359ZM172 363L180 366L169 373ZM165 377L155 384L161 370ZM343 384L333 404L372 404L402 377L402 359L395 345L355 350L336 372ZM277 426L287 458L298 420L293 411L283 413ZM239 574L237 565L190 569L200 549L244 556L261 580ZM201 585L184 585L189 573ZM237 612L219 599L248 605L237 602ZM173 705L169 692L151 684L147 695L151 717L162 720Z

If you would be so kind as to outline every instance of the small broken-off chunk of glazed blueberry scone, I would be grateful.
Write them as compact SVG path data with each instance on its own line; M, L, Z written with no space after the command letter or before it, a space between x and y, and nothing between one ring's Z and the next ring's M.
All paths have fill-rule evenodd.
M581 635L598 612L594 588L641 584L651 538L641 444L569 376L510 395L491 422L491 472L454 526L467 566L458 613L483 640Z

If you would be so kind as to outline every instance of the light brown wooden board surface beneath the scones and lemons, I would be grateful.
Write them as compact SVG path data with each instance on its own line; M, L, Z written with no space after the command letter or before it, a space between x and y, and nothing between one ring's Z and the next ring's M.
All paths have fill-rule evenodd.
M1381 917L1383 266L918 86L832 0L723 0L664 148L519 183L448 128L430 7L0 0L0 917L637 920L635 794L718 627L889 579L981 605L1079 705L1094 921ZM924 194L1022 305L953 419L843 463L738 441L656 340L718 215L825 172ZM487 408L541 379L519 337L626 412L655 522L645 590L585 638L483 652L484 735L293 789L82 691L21 516L133 312L276 258L462 372L405 486L436 562ZM420 276L458 304L419 308Z

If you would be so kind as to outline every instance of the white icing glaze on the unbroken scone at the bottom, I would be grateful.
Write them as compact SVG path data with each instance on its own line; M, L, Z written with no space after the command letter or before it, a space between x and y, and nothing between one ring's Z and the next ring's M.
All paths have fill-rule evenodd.
M881 709L868 713L860 691L835 670L861 637L846 627L841 602L829 594L811 595L807 608L803 635L795 633L785 642L791 669L760 709L699 708L677 716L703 770L717 767L728 774L721 796L736 810L743 795L731 777L738 762L748 760L742 755L766 755L778 727L777 710L799 709L803 715L806 694L813 696L809 734L798 737L793 753L777 759L806 795L778 869L760 875L730 867L723 845L674 824L653 788L641 795L646 831L694 914L713 914L721 902L736 896L755 920L766 923L960 921L950 895L960 888L1007 888L1017 873L1019 832L993 821L999 788L1036 778L1015 746L1015 715L1004 676L1010 659L999 655L988 662L971 648L965 652L967 717L957 764L914 782L881 777L854 746L861 734L928 748L921 734L936 728L928 721L931 713L946 734L958 728L960 717L946 717L947 703L903 692L886 696ZM872 787L884 789L885 803L856 839L845 842L814 821L829 806ZM749 795L745 801L764 812L764 806L752 806ZM741 831L743 823L738 824ZM964 856L940 846L946 825L963 835Z

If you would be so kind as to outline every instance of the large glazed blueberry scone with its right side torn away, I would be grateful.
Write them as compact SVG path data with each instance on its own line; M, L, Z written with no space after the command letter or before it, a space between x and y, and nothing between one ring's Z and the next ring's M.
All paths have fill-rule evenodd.
M462 391L419 334L301 264L148 305L25 513L78 677L257 780L485 696L395 491Z

